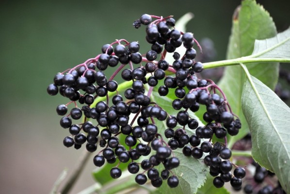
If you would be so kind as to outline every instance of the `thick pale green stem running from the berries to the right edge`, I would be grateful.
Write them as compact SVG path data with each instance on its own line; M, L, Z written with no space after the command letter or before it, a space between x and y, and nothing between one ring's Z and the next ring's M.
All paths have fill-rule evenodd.
M223 61L215 61L204 63L204 69L210 68L219 68L231 65L239 65L241 63L265 63L265 62L281 62L281 63L290 63L290 58L251 58L251 56L229 59Z

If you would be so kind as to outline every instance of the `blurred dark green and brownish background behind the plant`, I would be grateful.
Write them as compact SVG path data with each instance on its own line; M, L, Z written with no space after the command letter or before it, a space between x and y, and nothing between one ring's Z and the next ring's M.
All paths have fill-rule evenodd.
M232 14L240 0L2 0L0 2L0 193L48 193L60 172L73 168L81 150L65 148L68 131L59 126L55 108L67 103L46 92L57 72L100 53L115 39L139 40L144 26L132 23L142 14L195 17L188 24L197 40L210 38L214 60L223 60ZM259 1L274 18L278 31L290 25L290 1ZM73 189L93 183L89 161Z

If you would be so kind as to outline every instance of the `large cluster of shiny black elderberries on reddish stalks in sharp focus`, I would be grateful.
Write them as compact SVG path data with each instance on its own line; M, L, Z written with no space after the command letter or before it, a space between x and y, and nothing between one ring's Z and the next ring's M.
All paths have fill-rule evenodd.
M87 151L97 151L93 159L97 167L105 162L117 163L110 171L113 178L122 175L119 164L127 163L128 171L136 174L138 184L145 184L149 179L154 187L160 187L167 180L172 188L179 184L178 175L172 169L180 163L173 150L181 148L185 156L193 159L206 156L204 163L209 166L210 174L217 176L213 181L216 187L228 181L234 188L241 187L245 170L237 167L234 175L231 174L234 164L229 160L231 151L226 143L226 135L237 135L241 123L232 113L223 91L213 81L196 76L203 65L194 61L193 46L195 43L200 46L193 34L175 29L172 16L144 14L133 25L135 28L146 25L145 39L151 49L145 54L139 53L137 41L116 40L102 46L95 58L55 75L54 83L48 86L48 94L59 92L70 100L56 108L57 114L64 116L60 125L70 133L64 138L64 146L79 149L85 144ZM181 46L185 48L182 55L175 52ZM165 59L166 53L173 53L173 64ZM110 77L104 73L108 67L116 68ZM173 75L167 76L165 71ZM123 95L114 81L118 74L124 82L131 83ZM160 96L174 92L172 108L178 110L176 115L169 115L151 101L153 90ZM70 104L74 107L68 111ZM203 114L205 126L199 126L190 116L200 105L207 109ZM164 134L157 124L162 121L167 126ZM188 135L187 130L195 134ZM213 136L221 142L213 144ZM141 156L147 159L139 161ZM159 165L162 167L157 168Z

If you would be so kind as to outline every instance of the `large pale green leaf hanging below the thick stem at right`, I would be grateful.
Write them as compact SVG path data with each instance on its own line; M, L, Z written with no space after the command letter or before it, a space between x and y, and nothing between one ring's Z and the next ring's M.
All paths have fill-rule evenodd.
M248 74L242 110L252 134L253 158L274 172L286 193L290 193L290 108Z

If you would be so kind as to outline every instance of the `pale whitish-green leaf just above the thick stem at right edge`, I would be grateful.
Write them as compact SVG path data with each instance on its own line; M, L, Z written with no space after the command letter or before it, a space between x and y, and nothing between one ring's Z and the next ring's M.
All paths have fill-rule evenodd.
M290 28L272 38L256 40L251 58L290 58Z

